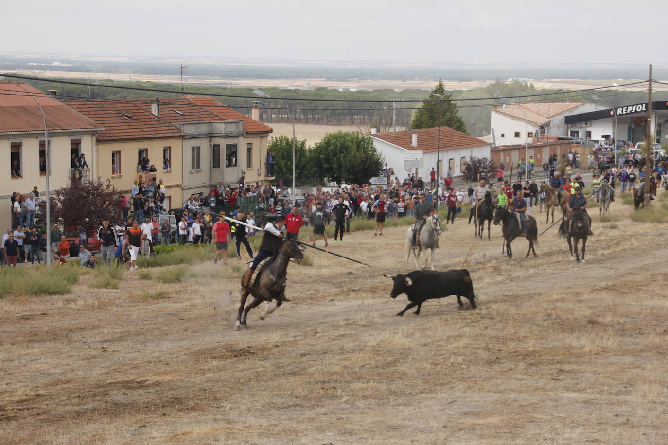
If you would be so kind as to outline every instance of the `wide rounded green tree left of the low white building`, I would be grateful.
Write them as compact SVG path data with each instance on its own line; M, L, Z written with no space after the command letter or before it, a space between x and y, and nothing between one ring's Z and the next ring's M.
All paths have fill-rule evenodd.
M373 139L359 131L327 133L311 148L315 179L336 183L363 183L379 175L383 157L373 146Z

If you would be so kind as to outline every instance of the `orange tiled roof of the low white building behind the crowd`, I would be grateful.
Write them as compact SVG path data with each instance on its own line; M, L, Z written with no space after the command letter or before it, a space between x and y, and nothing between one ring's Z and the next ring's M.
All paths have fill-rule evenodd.
M413 134L418 135L417 147L411 145L413 142ZM371 136L393 143L394 145L399 145L399 147L408 150L434 151L438 149L438 127L395 131L393 133L377 133ZM490 144L482 139L478 139L477 137L470 136L450 127L441 127L442 150L462 147L479 147L480 145Z

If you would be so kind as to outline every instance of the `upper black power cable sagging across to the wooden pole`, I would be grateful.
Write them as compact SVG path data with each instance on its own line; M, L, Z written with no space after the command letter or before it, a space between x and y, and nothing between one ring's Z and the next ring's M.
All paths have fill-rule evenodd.
M57 80L57 79L44 79L42 77L32 77L25 75L17 74L3 74L5 77L12 77L14 79L24 79L24 80L35 80L35 81L44 81L52 83L66 83L69 85L81 85L81 86L93 86L93 87L102 87L102 88L115 88L115 89L128 89L131 91L150 91L152 93L172 93L178 94L178 91L172 91L168 89L154 89L154 88L140 88L140 87L122 87L120 85L104 85L102 83L86 83L86 82L76 82L76 81L67 81L67 80ZM574 91L562 91L560 93L537 93L537 94L525 94L525 95L516 95L516 96L504 96L504 97L477 97L477 98L461 98L461 99L400 99L399 102L443 102L443 101L479 101L479 100L495 100L495 99L518 99L520 97L537 97L537 96L549 96L549 95L558 95L564 93L580 93L584 91L598 91L599 89L609 89L615 87L626 87L629 85L638 85L639 83L647 83L646 80L631 82L631 83L622 83L620 85L611 85L610 87L596 87L588 89L578 89ZM202 96L214 96L214 97L236 97L240 99L257 99L259 96L245 96L245 95L232 95L232 94L221 94L221 93L199 93L195 91L183 91L183 94L186 95L202 95ZM273 97L273 99L287 100L287 101L321 101L321 102L394 102L395 99L306 99L303 97Z

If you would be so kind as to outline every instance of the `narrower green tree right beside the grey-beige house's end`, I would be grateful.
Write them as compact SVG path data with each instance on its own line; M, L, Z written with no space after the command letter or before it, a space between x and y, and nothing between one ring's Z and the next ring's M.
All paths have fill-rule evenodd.
M274 177L273 185L278 185L279 180L283 179L283 185L290 187L292 185L292 137L279 136L269 138L267 151L274 152ZM295 148L295 183L299 186L311 185L313 179L313 167L311 165L311 156L306 147L306 140L297 140Z

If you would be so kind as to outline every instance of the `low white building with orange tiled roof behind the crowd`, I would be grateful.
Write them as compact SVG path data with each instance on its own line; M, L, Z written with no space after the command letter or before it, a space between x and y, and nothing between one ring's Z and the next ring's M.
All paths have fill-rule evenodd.
M469 156L490 158L490 143L482 141L450 127L441 127L440 144L438 143L438 127L424 128L393 133L371 134L373 145L385 157L388 167L394 169L399 179L409 173L422 176L429 181L429 172L436 168L438 147L440 146L439 175L445 176L448 169L453 176L461 176ZM423 153L422 167L404 167L405 153L421 150ZM414 161L413 161L414 162ZM411 164L411 161L406 163Z

